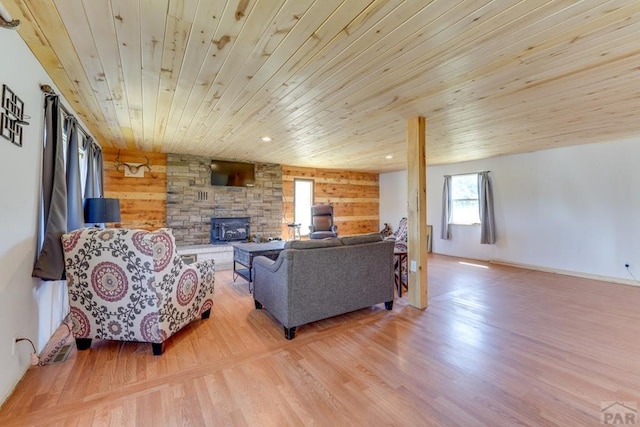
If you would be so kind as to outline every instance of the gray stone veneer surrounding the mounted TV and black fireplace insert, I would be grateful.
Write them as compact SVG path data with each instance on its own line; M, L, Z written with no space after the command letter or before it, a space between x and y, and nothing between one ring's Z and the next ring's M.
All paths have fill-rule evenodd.
M256 163L254 187L211 185L211 158L167 154L167 227L178 246L210 243L211 217L248 216L251 235L281 237L282 167Z

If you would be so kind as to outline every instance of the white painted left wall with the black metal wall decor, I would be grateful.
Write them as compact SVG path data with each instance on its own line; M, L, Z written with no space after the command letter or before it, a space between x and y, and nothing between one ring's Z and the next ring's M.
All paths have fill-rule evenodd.
M0 30L0 52L0 86L9 86L31 116L22 147L0 137L0 402L4 402L30 366L29 343L18 343L16 354L11 354L14 337L31 339L39 353L61 324L67 303L64 282L31 277L44 126L40 84L54 86L17 32Z

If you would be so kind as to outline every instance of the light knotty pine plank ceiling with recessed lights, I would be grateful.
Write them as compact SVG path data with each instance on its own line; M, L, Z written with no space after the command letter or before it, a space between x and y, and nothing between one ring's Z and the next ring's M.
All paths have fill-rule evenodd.
M638 1L3 4L103 146L388 172L417 115L429 164L640 134Z

